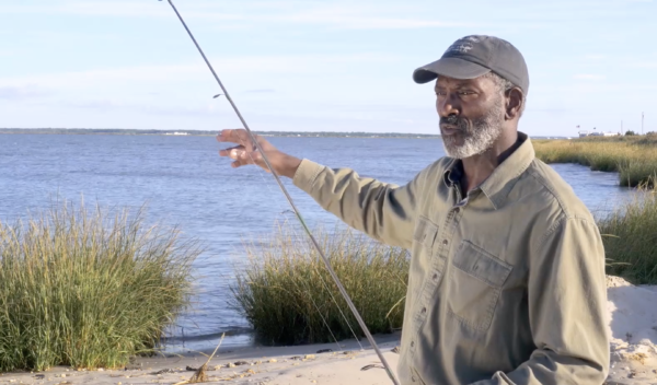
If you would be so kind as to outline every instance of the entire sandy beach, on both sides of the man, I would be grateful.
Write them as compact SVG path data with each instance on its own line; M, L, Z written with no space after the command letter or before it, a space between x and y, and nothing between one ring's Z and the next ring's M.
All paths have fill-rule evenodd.
M657 384L657 287L634 287L608 277L611 372L608 385ZM388 362L396 368L399 334L378 336ZM208 365L207 383L230 384L391 384L367 340L298 347L219 349ZM189 380L211 351L140 358L123 370L4 373L0 384L168 384Z

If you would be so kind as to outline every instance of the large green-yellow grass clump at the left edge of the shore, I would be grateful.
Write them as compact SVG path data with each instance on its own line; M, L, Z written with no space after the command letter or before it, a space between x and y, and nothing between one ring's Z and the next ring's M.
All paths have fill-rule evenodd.
M188 304L195 242L142 210L62 203L0 223L0 371L117 368Z

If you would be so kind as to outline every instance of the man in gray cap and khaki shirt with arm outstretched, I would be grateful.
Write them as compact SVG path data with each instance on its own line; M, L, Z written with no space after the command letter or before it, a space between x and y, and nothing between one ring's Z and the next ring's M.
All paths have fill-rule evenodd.
M602 384L609 371L604 250L572 188L518 131L529 75L508 42L466 36L414 72L436 79L448 156L399 187L258 138L274 170L324 209L412 250L397 366L403 384ZM258 164L226 130L233 167Z

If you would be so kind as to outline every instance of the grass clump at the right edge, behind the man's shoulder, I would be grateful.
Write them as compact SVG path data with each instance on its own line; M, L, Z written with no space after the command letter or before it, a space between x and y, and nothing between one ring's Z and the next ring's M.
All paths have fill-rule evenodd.
M657 284L657 192L639 186L634 199L598 220L607 273Z

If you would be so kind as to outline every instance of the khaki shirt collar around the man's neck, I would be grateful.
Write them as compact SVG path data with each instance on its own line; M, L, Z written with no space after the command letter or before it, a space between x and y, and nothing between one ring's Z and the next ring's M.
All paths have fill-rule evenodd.
M521 144L504 162L502 162L486 180L472 191L482 190L495 209L504 205L506 197L518 177L529 167L535 158L531 140L525 132L518 131ZM458 184L463 176L461 160L452 160L446 167L443 180L448 186Z

